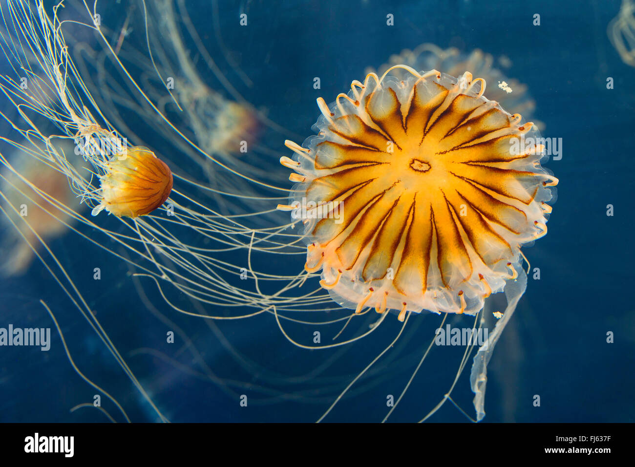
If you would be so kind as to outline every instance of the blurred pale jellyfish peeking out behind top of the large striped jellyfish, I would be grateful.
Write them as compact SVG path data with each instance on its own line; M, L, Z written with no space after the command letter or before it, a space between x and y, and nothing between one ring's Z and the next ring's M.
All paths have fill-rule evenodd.
M467 71L473 76L479 76L488 85L487 95L490 100L498 102L507 112L521 114L528 121L533 121L538 130L544 130L542 122L533 119L536 104L527 86L501 71L501 68L507 70L512 65L507 57L502 56L495 60L492 55L479 49L465 53L455 47L442 49L434 44L421 44L414 50L403 50L398 55L391 55L388 63L378 68L377 74L381 76L390 67L401 64L417 71L440 70L450 76L461 76ZM370 71L373 69L367 70ZM401 77L403 73L397 70L396 75Z

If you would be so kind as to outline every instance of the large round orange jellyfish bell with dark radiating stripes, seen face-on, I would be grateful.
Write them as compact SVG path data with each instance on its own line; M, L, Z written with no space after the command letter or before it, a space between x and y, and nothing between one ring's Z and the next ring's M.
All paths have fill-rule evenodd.
M396 79L398 68L410 75ZM317 136L281 163L296 173L292 218L305 224L309 272L359 313L364 307L468 313L518 275L520 247L540 238L558 183L544 146L483 96L485 81L406 65L340 93Z

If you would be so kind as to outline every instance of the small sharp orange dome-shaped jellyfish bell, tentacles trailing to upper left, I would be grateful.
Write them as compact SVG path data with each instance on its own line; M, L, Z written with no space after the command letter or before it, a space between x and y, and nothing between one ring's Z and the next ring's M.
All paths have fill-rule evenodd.
M128 147L104 164L101 200L92 215L102 210L119 217L149 214L170 196L173 177L168 165L143 146Z

